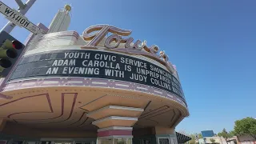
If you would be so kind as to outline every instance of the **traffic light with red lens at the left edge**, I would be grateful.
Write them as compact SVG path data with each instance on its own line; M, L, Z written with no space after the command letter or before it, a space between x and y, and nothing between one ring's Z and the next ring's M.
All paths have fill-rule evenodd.
M24 45L10 34L0 33L0 77L5 78L18 60Z

